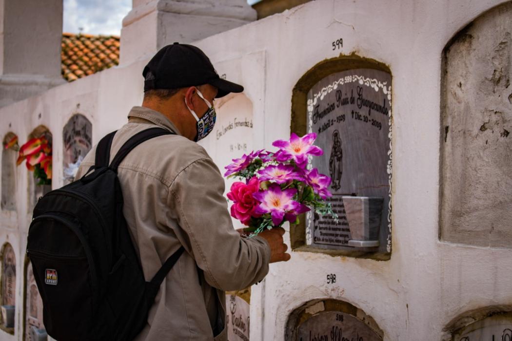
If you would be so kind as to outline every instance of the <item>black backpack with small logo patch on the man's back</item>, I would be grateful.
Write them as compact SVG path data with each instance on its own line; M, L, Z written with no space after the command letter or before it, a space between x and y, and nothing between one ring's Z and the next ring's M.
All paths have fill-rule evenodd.
M45 328L57 340L133 339L147 322L160 284L184 251L181 246L151 282L144 280L117 177L117 167L133 148L172 132L141 131L109 166L114 134L99 142L88 174L41 197L34 208L27 254L42 298Z

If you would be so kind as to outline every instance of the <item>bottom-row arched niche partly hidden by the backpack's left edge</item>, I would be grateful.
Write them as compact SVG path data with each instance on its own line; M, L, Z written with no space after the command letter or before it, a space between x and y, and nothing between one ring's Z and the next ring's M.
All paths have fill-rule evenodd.
M42 299L32 271L32 264L25 260L25 296L24 296L24 333L23 339L31 341L37 335L41 339L47 336L42 320Z

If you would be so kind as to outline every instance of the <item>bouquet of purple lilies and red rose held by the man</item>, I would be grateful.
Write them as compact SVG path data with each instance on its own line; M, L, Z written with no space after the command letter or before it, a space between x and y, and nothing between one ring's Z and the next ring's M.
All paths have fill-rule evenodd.
M233 183L227 197L233 202L231 216L248 226L244 231L251 232L249 237L286 221L297 224L297 216L311 209L337 219L325 201L332 195L328 190L331 178L316 168L307 169L308 157L323 154L313 145L315 139L315 133L302 138L292 133L290 140L272 143L278 151L252 151L225 167L224 176L245 180Z

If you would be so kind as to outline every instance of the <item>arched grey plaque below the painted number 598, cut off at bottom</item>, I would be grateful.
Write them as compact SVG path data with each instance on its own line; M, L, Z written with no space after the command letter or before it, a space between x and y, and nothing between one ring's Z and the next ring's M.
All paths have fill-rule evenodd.
M382 341L382 338L356 317L339 311L321 312L298 327L300 341Z

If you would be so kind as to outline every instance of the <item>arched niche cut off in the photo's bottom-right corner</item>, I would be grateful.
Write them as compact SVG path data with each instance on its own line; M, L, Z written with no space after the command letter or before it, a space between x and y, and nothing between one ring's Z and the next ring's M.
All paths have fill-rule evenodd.
M443 330L442 341L512 340L512 306L491 306L466 311Z

